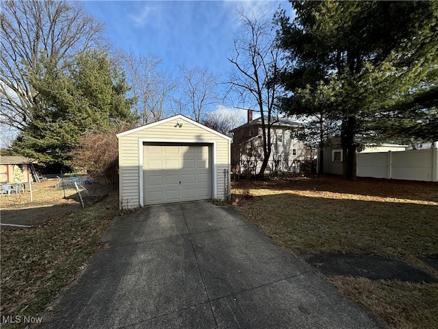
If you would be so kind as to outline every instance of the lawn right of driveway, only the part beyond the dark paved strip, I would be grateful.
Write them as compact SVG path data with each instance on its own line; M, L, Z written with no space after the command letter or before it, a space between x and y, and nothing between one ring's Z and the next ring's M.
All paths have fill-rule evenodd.
M337 191L340 184L348 193ZM324 185L320 179L234 184L233 204L292 252L305 249L407 259L438 254L438 184L426 185L430 190L426 201L415 195L414 184L412 194L402 197L380 196L385 193L372 184L335 178L328 178ZM421 193L427 192L424 188L422 184ZM363 194L367 190L376 195Z

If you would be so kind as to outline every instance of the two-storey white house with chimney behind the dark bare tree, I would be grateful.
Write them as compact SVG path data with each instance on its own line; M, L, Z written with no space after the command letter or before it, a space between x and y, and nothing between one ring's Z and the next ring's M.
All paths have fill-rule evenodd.
M267 118L266 118L266 121ZM271 127L272 152L267 171L294 172L300 162L309 158L308 149L298 134L304 130L301 123L287 118L274 120ZM231 169L233 172L258 173L263 162L263 130L261 117L253 120L253 110L248 110L248 121L231 130Z

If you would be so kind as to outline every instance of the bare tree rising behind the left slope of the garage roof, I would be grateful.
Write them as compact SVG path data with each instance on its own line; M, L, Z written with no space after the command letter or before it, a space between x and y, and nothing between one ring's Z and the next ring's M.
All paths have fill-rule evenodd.
M141 123L145 125L166 117L170 110L170 94L177 83L170 73L159 70L162 60L151 54L136 57L131 53L126 56L125 64L133 94L138 99L134 109L140 115Z

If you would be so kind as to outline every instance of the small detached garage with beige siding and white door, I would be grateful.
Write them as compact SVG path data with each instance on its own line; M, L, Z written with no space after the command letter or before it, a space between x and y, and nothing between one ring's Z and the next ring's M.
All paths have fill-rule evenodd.
M228 136L180 114L117 137L120 208L228 199Z

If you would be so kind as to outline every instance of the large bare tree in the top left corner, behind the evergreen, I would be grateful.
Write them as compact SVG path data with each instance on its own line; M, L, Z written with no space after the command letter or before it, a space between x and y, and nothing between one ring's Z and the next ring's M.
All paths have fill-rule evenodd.
M1 1L0 123L23 130L36 106L29 73L57 65L101 40L103 25L68 1Z

